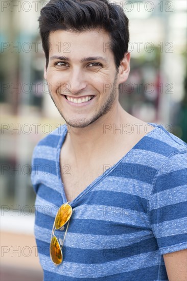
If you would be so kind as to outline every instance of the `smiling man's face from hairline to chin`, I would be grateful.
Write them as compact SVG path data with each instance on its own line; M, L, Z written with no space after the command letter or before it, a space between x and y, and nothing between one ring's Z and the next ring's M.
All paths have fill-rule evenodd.
M118 103L119 75L103 30L50 33L44 78L67 124L82 128L97 122Z

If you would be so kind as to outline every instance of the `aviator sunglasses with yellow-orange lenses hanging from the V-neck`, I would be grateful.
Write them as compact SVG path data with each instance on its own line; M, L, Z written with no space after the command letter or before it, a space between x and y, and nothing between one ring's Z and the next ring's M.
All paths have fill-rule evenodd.
M72 216L72 206L68 204L69 201L59 208L55 221L53 224L53 230L52 230L52 235L51 235L51 244L50 244L50 256L51 260L55 265L60 265L63 261L63 254L62 254L62 246L65 240L67 228L69 225L69 219ZM67 224L65 234L64 234L64 239L58 239L55 235L54 232L55 230L64 230L64 225Z

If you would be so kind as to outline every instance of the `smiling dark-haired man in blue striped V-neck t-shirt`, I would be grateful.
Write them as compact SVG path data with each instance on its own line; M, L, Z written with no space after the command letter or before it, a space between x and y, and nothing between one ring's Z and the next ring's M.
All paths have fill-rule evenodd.
M126 15L107 0L51 0L39 24L66 122L32 160L44 280L186 280L186 144L119 104Z

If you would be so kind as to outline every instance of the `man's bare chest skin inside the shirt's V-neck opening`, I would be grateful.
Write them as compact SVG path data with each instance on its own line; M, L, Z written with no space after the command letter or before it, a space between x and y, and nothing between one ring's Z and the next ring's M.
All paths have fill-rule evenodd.
M67 155L64 144L60 154L60 169L67 201L73 201L90 183L125 156L144 135L146 133L131 135L129 140L122 138L118 145L101 151L95 159L85 157L77 164Z

